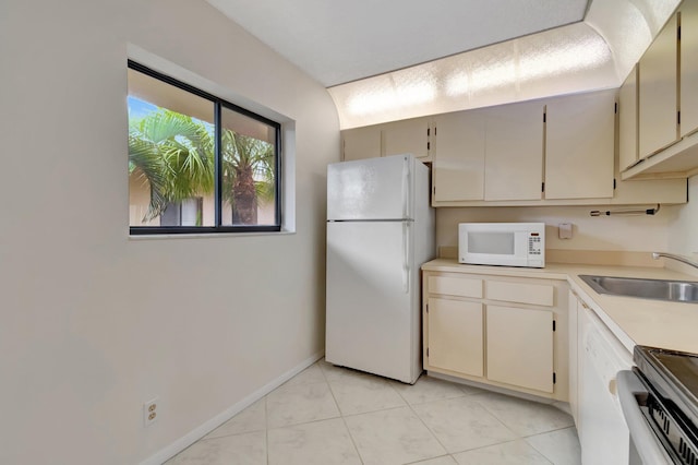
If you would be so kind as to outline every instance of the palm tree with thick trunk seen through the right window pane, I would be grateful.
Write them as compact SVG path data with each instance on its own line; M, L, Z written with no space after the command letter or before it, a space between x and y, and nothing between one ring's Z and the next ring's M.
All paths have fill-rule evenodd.
M274 199L274 145L225 129L221 135L222 198L233 225L256 225L260 202Z

